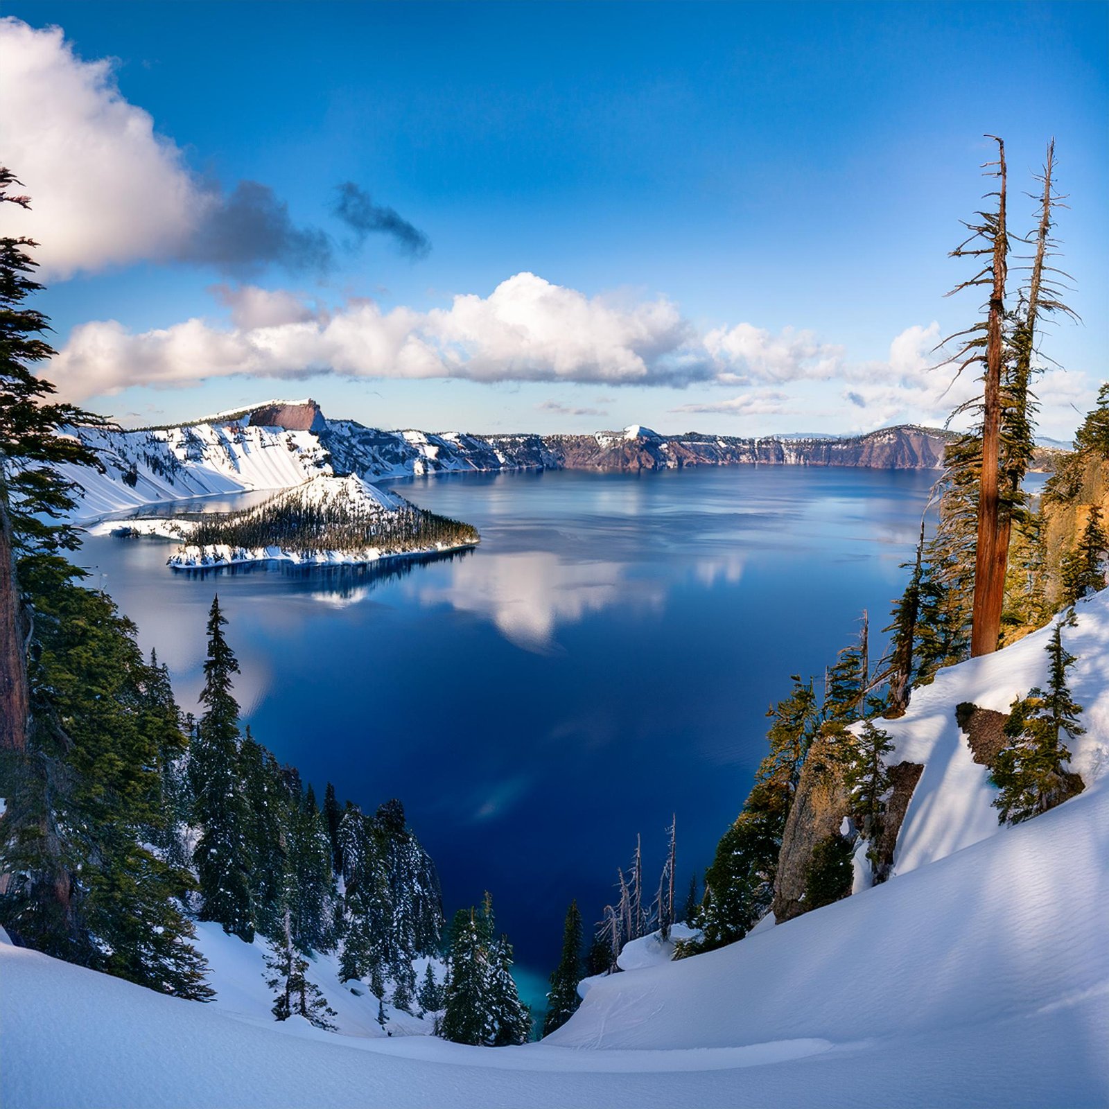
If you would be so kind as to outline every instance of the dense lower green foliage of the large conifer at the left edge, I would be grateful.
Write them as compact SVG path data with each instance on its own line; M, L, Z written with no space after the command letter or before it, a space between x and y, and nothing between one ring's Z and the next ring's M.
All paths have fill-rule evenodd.
M39 652L29 749L3 767L2 918L48 954L208 997L184 912L193 879L146 846L165 833L163 772L185 747L164 673L104 594L49 561L24 586Z

